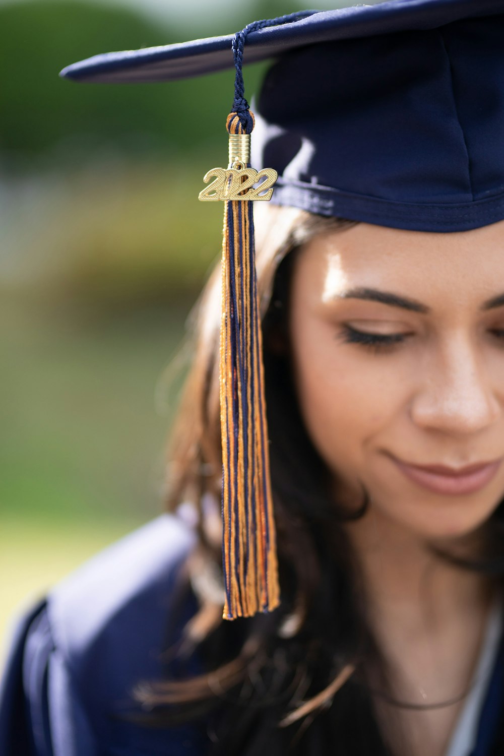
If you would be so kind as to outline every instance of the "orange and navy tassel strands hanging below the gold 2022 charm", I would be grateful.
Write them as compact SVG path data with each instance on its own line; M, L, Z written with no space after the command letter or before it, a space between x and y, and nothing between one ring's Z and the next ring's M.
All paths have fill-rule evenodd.
M253 128L252 113L250 122ZM237 113L230 113L226 125L230 135L243 134ZM245 163L242 169L244 178L249 178L247 166ZM250 200L226 201L223 236L220 374L224 618L234 619L275 609L280 603L280 589Z

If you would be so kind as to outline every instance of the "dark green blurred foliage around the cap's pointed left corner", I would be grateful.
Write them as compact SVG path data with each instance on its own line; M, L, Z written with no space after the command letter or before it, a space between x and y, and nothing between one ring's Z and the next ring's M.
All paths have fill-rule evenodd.
M248 19L249 20L249 19ZM247 23L247 21L245 21ZM214 29L206 29L211 35ZM227 31L230 31L228 29ZM114 50L167 45L196 29L161 28L133 11L84 2L0 6L0 150L7 166L34 154L85 163L112 149L128 156L225 145L233 71L187 82L79 84L59 71ZM197 35L196 35L197 36ZM264 65L248 67L247 91Z

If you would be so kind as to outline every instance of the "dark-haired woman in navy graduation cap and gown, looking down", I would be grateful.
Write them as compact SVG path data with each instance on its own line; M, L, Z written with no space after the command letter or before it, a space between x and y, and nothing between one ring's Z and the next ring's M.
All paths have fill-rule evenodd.
M280 607L221 619L216 269L172 436L177 516L26 618L2 754L504 752L503 39L497 0L247 38L252 59L282 51L255 140L280 174L280 206L255 212ZM222 50L78 71L167 78Z

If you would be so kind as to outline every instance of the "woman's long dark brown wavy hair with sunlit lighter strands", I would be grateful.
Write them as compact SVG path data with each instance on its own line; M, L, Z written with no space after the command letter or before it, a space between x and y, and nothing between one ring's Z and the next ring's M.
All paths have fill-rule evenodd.
M391 753L363 674L372 665L374 680L388 689L342 527L349 514L329 493L329 470L301 418L287 328L296 256L315 236L352 225L293 208L259 206L256 212L282 593L280 607L271 614L233 622L222 619L220 264L190 316L193 356L169 443L166 506L175 511L190 503L193 508L197 543L181 571L178 599L181 616L187 615L188 603L194 611L183 629L172 618L175 640L167 658L178 660L176 679L143 683L136 698L149 712L150 724L199 723L215 756ZM362 515L368 501L363 488L363 506L352 516ZM195 656L196 675L190 666ZM394 733L394 751L400 740Z

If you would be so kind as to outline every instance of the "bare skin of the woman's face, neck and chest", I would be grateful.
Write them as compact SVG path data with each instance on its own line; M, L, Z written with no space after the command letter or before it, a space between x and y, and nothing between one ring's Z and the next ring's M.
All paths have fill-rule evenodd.
M429 311L342 299L354 287ZM316 237L295 260L289 341L301 414L337 500L358 507L362 485L369 493L348 536L403 701L446 701L472 679L491 586L427 544L475 541L504 496L504 461L483 488L454 496L407 479L392 457L453 467L504 458L504 302L481 311L503 292L504 221L450 234L360 223ZM404 340L375 351L345 342L345 324ZM441 756L462 703L405 711L377 699L376 709L392 740L407 733L411 756Z

